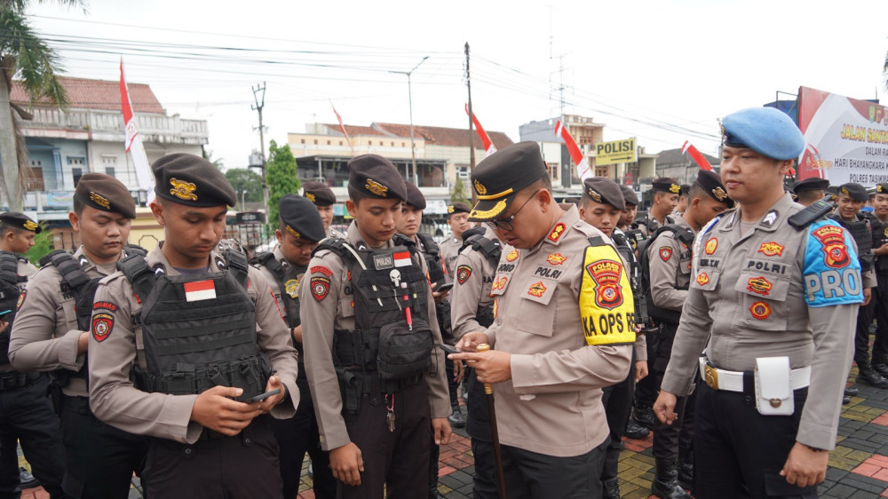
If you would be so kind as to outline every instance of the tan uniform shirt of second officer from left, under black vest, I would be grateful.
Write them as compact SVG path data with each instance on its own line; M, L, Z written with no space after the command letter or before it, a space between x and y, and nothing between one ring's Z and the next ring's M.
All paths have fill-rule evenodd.
M95 265L81 246L74 254L90 279L115 272L115 264ZM77 328L75 297L61 290L62 276L55 265L45 265L28 282L28 292L16 313L9 342L12 367L20 371L52 371L83 367L85 355L77 355L82 330ZM52 311L52 312L51 312ZM72 377L62 388L68 396L89 397L86 380Z

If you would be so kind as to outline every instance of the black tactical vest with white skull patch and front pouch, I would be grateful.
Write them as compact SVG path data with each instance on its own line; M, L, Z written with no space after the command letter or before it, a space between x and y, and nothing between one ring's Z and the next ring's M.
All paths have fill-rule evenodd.
M357 410L360 394L398 392L416 384L430 365L429 282L413 259L420 257L415 243L400 234L394 242L371 250L327 239L315 249L333 251L351 273L355 329L333 335L333 364L349 412Z

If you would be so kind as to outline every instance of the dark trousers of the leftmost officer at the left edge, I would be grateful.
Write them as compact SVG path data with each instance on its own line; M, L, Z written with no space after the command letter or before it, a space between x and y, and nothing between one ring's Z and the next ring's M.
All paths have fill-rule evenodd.
M29 374L29 383L0 392L0 498L18 499L19 453L17 443L31 463L31 471L50 497L64 497L65 473L59 416L46 397L49 379Z

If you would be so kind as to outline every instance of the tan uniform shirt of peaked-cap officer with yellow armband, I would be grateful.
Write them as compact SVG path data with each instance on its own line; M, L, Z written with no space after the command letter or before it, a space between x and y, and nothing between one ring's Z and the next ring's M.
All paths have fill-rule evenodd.
M584 253L589 237L610 240L574 205L561 207L543 241L518 249L514 268L500 265L496 321L485 333L492 348L511 353L511 380L494 384L500 442L568 457L607 439L601 388L626 378L632 345L587 345L578 305ZM628 285L619 291L631 296Z

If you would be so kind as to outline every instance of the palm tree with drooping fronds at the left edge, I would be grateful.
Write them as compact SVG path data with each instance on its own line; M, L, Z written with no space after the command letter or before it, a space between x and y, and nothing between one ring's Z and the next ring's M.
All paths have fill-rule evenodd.
M10 103L12 79L21 80L31 104L46 98L56 106L67 105L65 89L56 77L62 71L59 57L25 20L24 12L31 3L31 0L0 0L0 163L3 167L0 195L10 210L21 210L24 197L21 173L28 168L28 150L19 131L19 120L30 119L27 111ZM85 7L84 0L59 0L59 3Z

